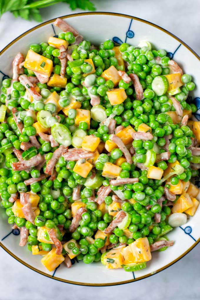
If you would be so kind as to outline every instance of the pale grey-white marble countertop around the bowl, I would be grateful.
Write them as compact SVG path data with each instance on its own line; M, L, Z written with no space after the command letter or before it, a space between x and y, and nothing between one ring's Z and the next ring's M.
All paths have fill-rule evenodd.
M97 11L126 13L151 21L172 32L200 55L199 0L93 0ZM192 2L192 4L191 4ZM81 12L81 10L76 10ZM42 10L43 20L72 13L64 4ZM0 20L0 50L37 22L15 19L6 13ZM26 268L0 248L0 300L49 300L55 298L111 300L198 300L200 294L200 244L170 268L144 280L121 286L85 287L49 279Z

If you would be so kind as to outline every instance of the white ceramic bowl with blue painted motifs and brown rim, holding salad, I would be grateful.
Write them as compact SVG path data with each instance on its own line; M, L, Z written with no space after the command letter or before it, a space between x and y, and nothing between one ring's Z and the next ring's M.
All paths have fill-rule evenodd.
M76 28L86 40L97 45L106 39L113 39L118 43L127 42L135 46L142 40L150 41L157 49L166 49L170 58L174 58L186 73L194 76L193 80L196 84L200 82L199 56L180 39L157 25L117 13L78 13L62 18ZM6 78L6 75L12 76L12 61L17 52L21 51L25 54L30 44L41 43L47 41L49 36L58 35L60 29L53 26L54 20L44 22L28 30L0 52L0 79ZM198 108L200 108L199 96L200 88L197 87L191 94L191 101L195 99ZM196 118L200 120L198 111ZM200 186L199 178L196 179L196 184ZM47 271L40 262L41 256L33 256L27 247L18 246L19 230L12 230L7 223L4 208L0 208L0 246L23 265L56 280L88 286L129 283L164 270L195 247L200 241L199 214L200 208L194 217L187 221L187 224L168 234L169 239L175 241L173 247L169 247L164 252L152 253L152 260L147 263L147 267L134 273L125 272L123 268L107 270L100 262L85 265L77 260L73 260L75 265L70 269L61 264L55 271Z

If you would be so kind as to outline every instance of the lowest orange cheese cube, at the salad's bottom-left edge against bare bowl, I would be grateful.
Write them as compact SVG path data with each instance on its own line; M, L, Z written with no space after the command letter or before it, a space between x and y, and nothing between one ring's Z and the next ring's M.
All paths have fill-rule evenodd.
M56 254L55 251L56 251L56 248L53 248L41 259L41 263L50 272L53 271L55 268L57 268L58 265L60 265L61 262L64 261L64 256L62 254L60 254L60 255Z

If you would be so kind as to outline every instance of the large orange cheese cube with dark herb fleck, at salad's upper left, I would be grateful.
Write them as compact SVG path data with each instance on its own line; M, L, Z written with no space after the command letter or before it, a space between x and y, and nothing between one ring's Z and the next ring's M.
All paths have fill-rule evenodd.
M24 67L31 71L35 71L50 77L53 69L53 62L49 58L37 54L32 50L28 50L24 62Z

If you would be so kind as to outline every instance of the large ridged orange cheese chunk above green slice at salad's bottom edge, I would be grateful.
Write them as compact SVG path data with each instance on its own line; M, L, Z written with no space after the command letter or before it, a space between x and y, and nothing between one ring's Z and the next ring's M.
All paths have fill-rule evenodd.
M138 238L121 250L124 265L137 262L147 262L151 259L148 238Z

